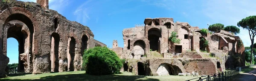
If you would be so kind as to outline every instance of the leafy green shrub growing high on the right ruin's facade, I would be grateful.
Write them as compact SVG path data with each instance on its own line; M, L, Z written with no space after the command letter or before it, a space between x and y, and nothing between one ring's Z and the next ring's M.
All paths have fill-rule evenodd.
M174 53L175 46L176 46L175 43L180 44L180 39L177 38L177 32L172 31L171 36L168 38L168 41L170 42L169 50ZM172 47L172 48L170 48L170 47Z

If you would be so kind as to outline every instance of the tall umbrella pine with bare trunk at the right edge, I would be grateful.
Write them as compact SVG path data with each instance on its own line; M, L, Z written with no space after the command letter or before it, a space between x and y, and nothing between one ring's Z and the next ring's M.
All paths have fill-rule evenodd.
M250 63L252 64L253 61L253 43L254 43L254 37L256 35L256 15L249 16L237 23L237 26L242 27L243 29L247 29L250 35L251 40L251 57L250 57Z

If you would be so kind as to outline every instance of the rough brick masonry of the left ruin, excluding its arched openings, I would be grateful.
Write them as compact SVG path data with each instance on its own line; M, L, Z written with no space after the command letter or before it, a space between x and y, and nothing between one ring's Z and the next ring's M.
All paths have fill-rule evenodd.
M48 0L38 0L41 3L47 3ZM42 3L43 3L42 2ZM8 7L4 7L8 5ZM19 6L19 7L17 7ZM29 67L33 69L33 74L40 74L50 72L50 52L51 52L51 34L53 32L60 35L58 63L59 72L67 71L67 43L68 38L73 37L76 39L76 49L74 56L75 70L81 69L81 38L83 35L88 37L88 48L95 46L94 35L87 26L83 26L77 22L67 20L58 12L47 9L45 10L38 3L22 2L16 0L9 0L9 2L0 2L0 20L3 25L0 28L6 27L8 20L19 20L26 24L30 31L30 58L27 59L31 62ZM46 5L44 5L46 6ZM47 7L47 6L46 6ZM3 32L6 30L0 29L0 54L6 55L6 39L3 39ZM2 48L3 47L3 48ZM3 59L0 59L3 60ZM2 66L2 65L1 65ZM3 65L4 66L4 65ZM31 69L31 70L32 70Z

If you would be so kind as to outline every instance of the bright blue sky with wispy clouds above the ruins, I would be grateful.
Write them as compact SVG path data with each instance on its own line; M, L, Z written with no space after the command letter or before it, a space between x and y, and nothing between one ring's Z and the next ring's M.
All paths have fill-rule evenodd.
M49 0L49 9L90 27L94 39L112 48L113 40L118 41L119 47L124 46L123 29L144 24L147 17L172 17L199 28L214 23L236 26L239 20L256 15L255 4L255 0ZM240 31L238 36L245 46L250 46L248 31ZM9 38L7 46L10 63L17 63L17 40Z

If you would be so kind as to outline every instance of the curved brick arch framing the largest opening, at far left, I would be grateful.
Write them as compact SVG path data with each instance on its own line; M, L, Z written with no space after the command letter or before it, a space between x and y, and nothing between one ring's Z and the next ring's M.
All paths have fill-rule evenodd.
M29 35L29 41L30 41L30 49L29 52L31 53L37 53L38 52L38 40L34 40L34 36L38 36L38 33L35 31L38 31L38 21L34 14L29 12L29 10L25 8L20 7L11 7L8 9L3 10L2 13L0 13L0 19L2 19L3 25L0 25L0 27L5 28L6 24L11 20L19 20L28 26L30 35ZM3 34L3 38L0 38L0 41L6 41L7 38L5 38L5 34ZM32 44L33 43L33 44ZM0 54L6 55L6 42L0 43ZM30 53L29 53L30 54ZM33 54L35 55L35 54ZM33 58L33 55L30 58ZM31 60L31 59L30 59ZM32 68L32 60L31 64L29 64L29 67Z

